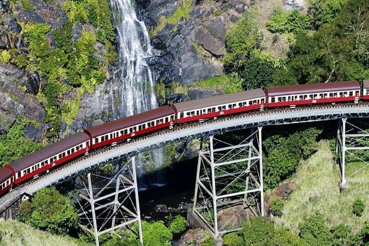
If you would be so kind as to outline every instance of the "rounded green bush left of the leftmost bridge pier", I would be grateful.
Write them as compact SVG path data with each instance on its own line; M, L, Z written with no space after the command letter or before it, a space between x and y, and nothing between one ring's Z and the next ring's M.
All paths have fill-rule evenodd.
M23 214L23 218L27 218L26 222L35 228L66 234L78 226L74 207L54 187L38 191L32 198L31 208L31 214Z

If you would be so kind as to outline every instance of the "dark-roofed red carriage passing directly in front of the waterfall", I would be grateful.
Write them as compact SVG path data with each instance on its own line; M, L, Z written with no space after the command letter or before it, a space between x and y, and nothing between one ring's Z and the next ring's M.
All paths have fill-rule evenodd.
M85 130L93 149L174 125L174 110L160 107Z

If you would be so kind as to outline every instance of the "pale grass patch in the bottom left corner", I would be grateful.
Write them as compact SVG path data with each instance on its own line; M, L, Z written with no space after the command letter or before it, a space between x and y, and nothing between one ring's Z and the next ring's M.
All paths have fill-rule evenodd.
M48 232L36 230L27 224L8 220L0 222L2 240L0 246L76 246L76 239L67 236L57 236ZM81 245L81 244L80 244ZM86 244L87 245L87 244Z

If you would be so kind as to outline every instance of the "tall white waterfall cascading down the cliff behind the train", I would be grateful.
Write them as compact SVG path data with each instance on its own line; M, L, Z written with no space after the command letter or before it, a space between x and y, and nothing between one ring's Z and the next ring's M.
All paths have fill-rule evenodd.
M132 0L110 0L113 19L118 32L119 62L121 72L121 117L137 114L158 107L152 72L147 58L152 56L150 37L145 23L137 18ZM160 168L163 150L151 153L154 167ZM143 158L138 170L144 170Z

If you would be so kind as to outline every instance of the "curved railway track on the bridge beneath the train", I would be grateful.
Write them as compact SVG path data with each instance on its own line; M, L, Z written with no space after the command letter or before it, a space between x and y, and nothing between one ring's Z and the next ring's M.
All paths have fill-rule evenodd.
M104 152L111 151L111 150L117 149L117 148L122 148L124 146L129 146L129 145L132 145L135 142L144 141L144 140L147 140L147 139L150 139L150 138L153 138L153 137L157 137L157 136L161 136L161 135L165 135L165 134L169 134L169 133L176 133L176 132L179 132L179 131L183 131L185 129L196 128L196 127L199 127L199 126L214 124L215 122L226 122L226 121L229 121L229 120L241 119L241 118L258 117L258 116L283 114L283 113L285 114L285 113L289 113L289 112L292 113L292 112L299 112L299 111L306 111L306 110L312 110L313 111L313 110L321 110L321 109L339 109L339 108L346 108L346 109L347 108L353 108L354 109L354 108L368 107L368 106L369 106L369 102L360 102L359 104L340 103L340 104L335 104L335 105L314 105L314 106L302 106L302 107L296 107L296 108L275 108L275 109L265 110L263 112L260 112L260 111L246 112L246 113L242 113L242 114L238 114L238 115L222 116L222 117L219 117L217 119L208 119L208 120L204 120L204 121L201 121L201 122L198 121L198 122L192 122L192 123L188 123L188 124L177 125L173 129L163 129L163 130L160 130L158 132L153 132L153 133L150 133L148 135L144 135L144 136L140 136L140 137L137 137L137 138L130 139L130 141L120 142L119 144L116 144L114 146L106 146L106 147L102 147L98 150L91 151L88 155L76 158L76 159L74 159L72 161L69 161L69 162L67 162L67 163L65 163L61 166L56 166L55 168L51 169L48 173L44 173L36 179L32 179L32 180L29 180L25 183L22 183L21 185L18 185L17 187L13 188L12 192L22 190L23 188L32 185L34 182L38 182L40 180L46 179L47 177L49 177L50 175L52 175L56 172L60 172L64 169L67 169L68 167L70 167L72 165L75 165L78 162L81 162L81 161L89 159L91 157L100 155ZM0 198L0 214L7 208L7 204L12 204L12 202L14 202L14 199L16 199L16 198L13 198L13 199L4 200L4 198L6 196L7 196L7 194L5 196L3 196L2 198Z

